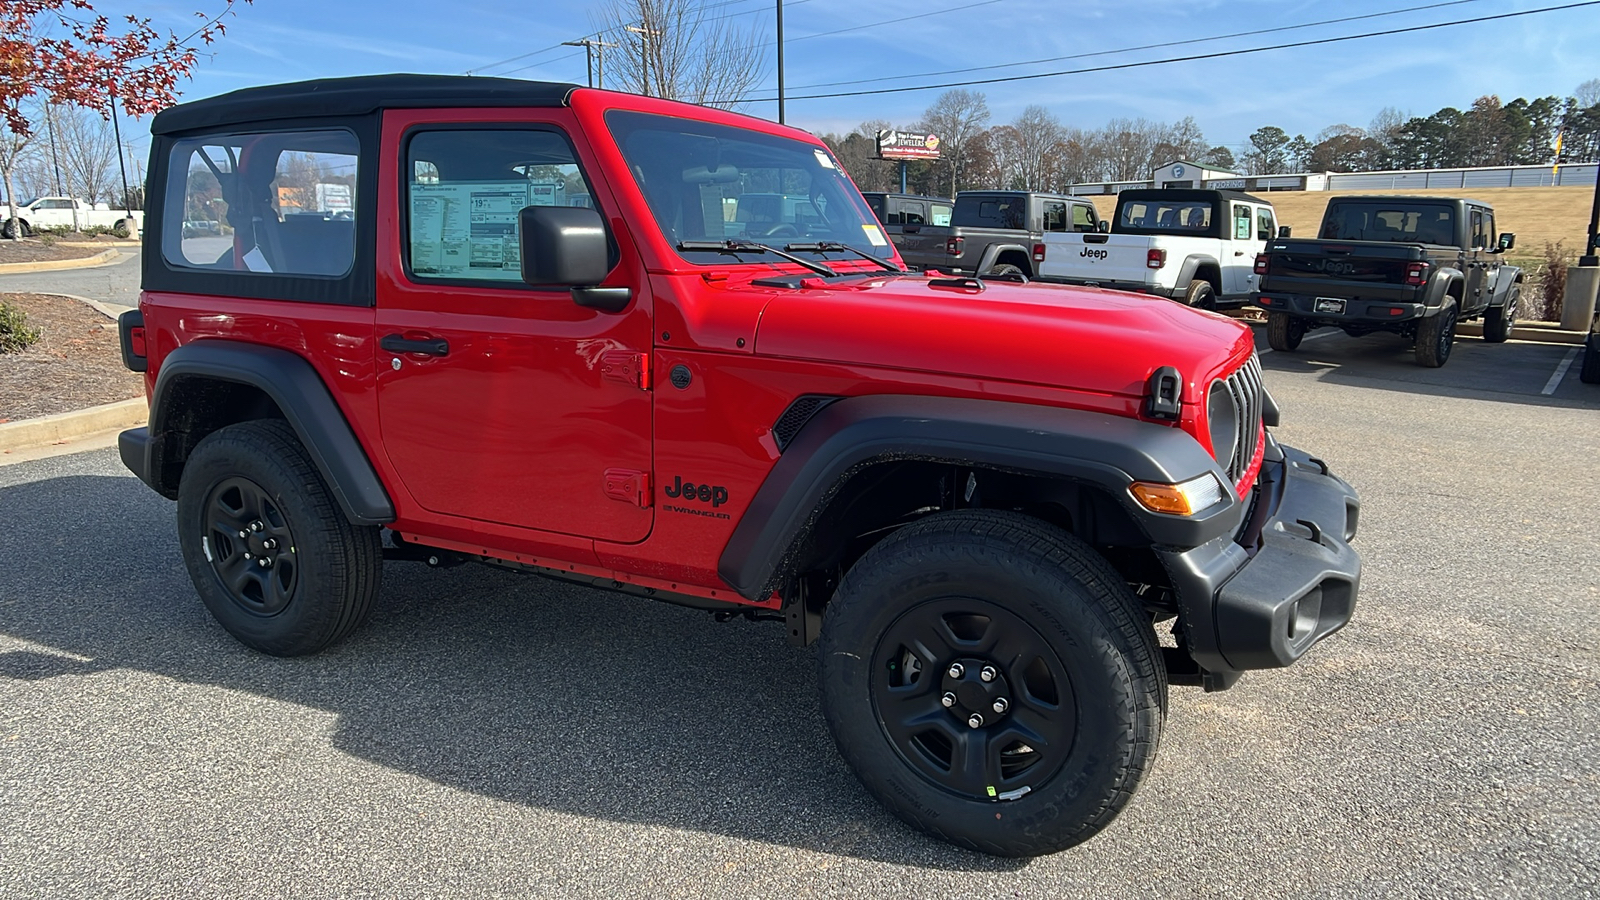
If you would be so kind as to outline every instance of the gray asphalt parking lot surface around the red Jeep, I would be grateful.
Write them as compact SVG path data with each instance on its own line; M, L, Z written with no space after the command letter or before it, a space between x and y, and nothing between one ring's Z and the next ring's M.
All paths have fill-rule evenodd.
M901 826L770 623L386 569L314 658L235 644L114 452L0 468L0 897L1590 897L1600 388L1571 348L1267 354L1280 440L1365 501L1355 621L1174 689L1099 838Z

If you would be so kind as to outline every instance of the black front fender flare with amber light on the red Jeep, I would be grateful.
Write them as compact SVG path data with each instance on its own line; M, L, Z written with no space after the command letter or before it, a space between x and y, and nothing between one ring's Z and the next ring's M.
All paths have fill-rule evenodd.
M1243 506L1216 460L1187 432L1109 413L998 400L874 394L818 412L762 482L723 548L718 575L758 601L851 474L880 461L928 460L1083 482L1130 512L1152 544L1198 546L1234 533ZM1128 485L1213 472L1224 503L1190 517L1149 512Z

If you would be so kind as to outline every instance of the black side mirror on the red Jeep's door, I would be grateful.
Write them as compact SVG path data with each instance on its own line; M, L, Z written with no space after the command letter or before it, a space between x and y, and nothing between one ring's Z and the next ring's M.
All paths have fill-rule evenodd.
M522 280L534 287L571 287L573 303L621 312L629 288L597 287L611 271L605 219L584 207L523 207L517 221Z

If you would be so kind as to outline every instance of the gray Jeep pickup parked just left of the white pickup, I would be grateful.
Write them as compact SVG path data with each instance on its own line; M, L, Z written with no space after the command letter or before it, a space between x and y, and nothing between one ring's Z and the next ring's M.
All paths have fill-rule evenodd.
M920 229L918 245L901 245L912 269L957 275L1026 275L1045 258L1045 232L1099 231L1094 203L1029 191L962 191L949 227ZM930 240L942 237L942 240Z

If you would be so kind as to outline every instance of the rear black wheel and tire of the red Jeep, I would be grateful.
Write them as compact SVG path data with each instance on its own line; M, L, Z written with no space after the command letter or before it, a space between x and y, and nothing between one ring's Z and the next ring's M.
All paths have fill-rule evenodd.
M274 657L315 653L378 596L376 527L350 524L282 420L211 432L178 485L178 543L211 615Z

